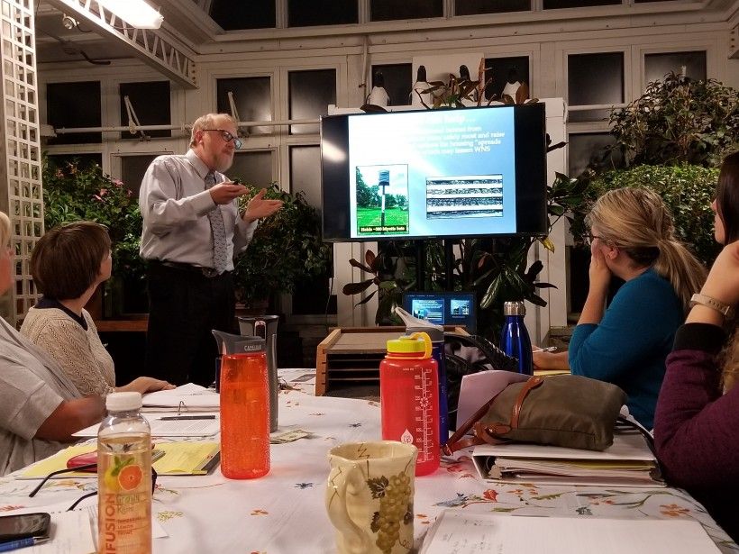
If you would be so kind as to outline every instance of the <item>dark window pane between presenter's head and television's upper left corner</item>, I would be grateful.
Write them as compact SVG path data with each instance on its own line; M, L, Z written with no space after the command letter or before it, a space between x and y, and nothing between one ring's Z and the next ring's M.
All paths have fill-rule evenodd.
M290 71L290 119L309 119L328 114L328 104L336 104L336 70ZM318 123L290 125L290 134L318 132Z

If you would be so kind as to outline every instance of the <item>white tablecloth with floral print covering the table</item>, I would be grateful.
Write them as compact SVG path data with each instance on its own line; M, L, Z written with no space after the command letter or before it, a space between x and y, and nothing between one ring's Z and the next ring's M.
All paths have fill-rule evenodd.
M305 374L302 370L299 373ZM289 380L298 372L287 372ZM154 540L155 553L294 554L335 551L324 509L327 452L336 444L379 439L379 403L315 397L302 390L280 393L280 427L313 433L271 447L271 471L254 480L225 479L218 469L204 477L160 477L153 512L169 537ZM29 498L37 480L0 478L0 512L68 502L96 488L95 479L56 479ZM93 497L81 505L96 503ZM510 486L483 481L468 455L442 461L431 476L415 481L416 546L446 508L513 515L577 518L693 519L723 552L739 547L704 508L675 488Z

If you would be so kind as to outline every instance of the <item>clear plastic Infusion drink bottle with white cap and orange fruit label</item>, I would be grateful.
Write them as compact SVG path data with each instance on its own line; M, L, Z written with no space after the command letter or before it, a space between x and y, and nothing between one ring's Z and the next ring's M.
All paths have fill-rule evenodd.
M105 398L97 431L97 551L151 553L151 429L140 393Z

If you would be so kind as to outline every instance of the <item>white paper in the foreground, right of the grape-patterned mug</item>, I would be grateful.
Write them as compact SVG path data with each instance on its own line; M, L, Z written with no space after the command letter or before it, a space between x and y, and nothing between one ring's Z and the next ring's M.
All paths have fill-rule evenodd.
M420 554L711 554L719 552L700 523L506 516L445 510Z

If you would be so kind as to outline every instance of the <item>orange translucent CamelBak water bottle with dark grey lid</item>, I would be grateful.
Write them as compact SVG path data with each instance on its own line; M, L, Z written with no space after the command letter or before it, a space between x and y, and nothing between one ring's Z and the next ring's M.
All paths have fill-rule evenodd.
M264 339L213 331L221 351L221 473L269 473L269 381Z

